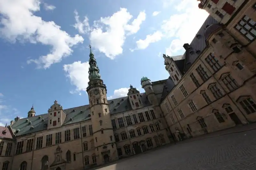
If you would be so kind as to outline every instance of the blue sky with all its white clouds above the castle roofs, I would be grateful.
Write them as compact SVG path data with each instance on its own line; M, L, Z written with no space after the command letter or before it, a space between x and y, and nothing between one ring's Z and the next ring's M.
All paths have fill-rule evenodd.
M32 107L87 105L89 45L108 99L169 77L209 15L196 0L0 0L0 126Z

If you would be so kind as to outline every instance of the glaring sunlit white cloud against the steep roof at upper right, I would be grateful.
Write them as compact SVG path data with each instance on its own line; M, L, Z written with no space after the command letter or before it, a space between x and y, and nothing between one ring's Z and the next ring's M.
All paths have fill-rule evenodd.
M170 47L166 48L167 55L183 49L183 44L190 43L208 17L206 11L198 8L198 3L198 1L182 0L174 7L181 13L172 15L164 21L162 25L164 35L173 38Z

